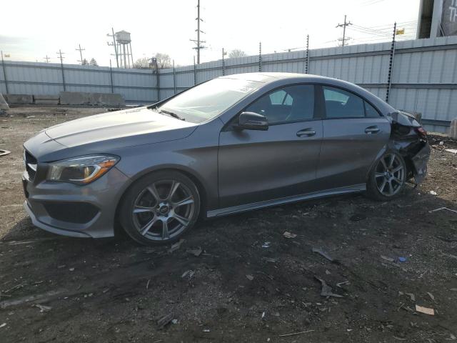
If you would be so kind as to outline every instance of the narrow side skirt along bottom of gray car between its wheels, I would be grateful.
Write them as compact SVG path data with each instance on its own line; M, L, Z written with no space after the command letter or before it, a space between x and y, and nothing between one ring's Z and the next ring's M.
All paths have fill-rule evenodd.
M347 187L338 187L334 189L327 189L320 192L312 192L307 194L294 195L293 197L284 197L272 200L266 200L264 202L253 202L251 204L243 204L239 206L226 207L224 209L214 209L206 212L206 217L221 217L227 214L234 214L239 212L251 211L253 209L262 209L264 207L272 207L280 204L289 204L292 202L301 202L308 199L316 199L321 197L330 197L332 195L356 193L366 191L366 184L354 184Z

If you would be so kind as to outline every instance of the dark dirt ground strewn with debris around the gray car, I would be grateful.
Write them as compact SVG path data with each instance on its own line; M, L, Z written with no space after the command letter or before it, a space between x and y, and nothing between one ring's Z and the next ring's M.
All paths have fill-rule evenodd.
M457 213L431 212L457 209L457 155L444 151L456 141L433 136L425 182L393 202L351 195L214 219L169 252L59 237L22 209L23 142L100 111L0 117L11 151L0 157L1 342L457 342ZM322 297L316 277L341 297Z

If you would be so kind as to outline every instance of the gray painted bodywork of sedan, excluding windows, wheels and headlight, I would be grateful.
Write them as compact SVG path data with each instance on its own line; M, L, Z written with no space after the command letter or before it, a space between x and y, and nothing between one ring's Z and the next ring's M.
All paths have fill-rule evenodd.
M26 182L29 199L25 206L34 224L75 237L112 236L116 209L126 189L136 179L164 169L179 170L194 180L206 217L366 189L369 169L389 146L391 114L396 113L390 105L359 86L322 76L253 73L224 77L253 80L261 86L200 124L141 107L69 121L26 141L24 148L38 159L42 171L51 161L75 156L121 158L89 185L48 182L43 176ZM341 87L366 99L383 116L316 118L271 125L268 131L230 129L231 120L259 96L291 84ZM363 131L373 125L380 129L378 134ZM296 136L303 129L313 129L316 135ZM426 154L414 162L422 172ZM24 173L23 178L27 180L28 175ZM42 206L46 201L89 202L100 212L93 221L75 226L47 216Z

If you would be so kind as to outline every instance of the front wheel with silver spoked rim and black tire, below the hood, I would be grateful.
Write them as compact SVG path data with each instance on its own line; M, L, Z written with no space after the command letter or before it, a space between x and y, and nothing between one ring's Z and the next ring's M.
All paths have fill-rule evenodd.
M122 199L119 219L136 242L176 242L194 227L200 196L194 182L175 171L154 172L136 181Z

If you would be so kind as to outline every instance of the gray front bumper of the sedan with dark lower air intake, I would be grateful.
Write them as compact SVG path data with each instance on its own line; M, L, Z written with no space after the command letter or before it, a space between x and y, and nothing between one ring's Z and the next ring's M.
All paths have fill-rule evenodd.
M79 186L22 175L24 208L36 227L69 237L113 237L116 207L130 179L116 167Z

